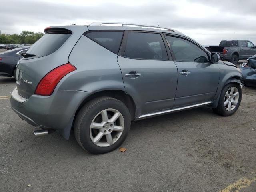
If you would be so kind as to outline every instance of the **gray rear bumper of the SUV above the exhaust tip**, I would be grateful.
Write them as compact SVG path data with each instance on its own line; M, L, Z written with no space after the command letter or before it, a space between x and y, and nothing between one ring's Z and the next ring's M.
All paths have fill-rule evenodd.
M32 95L26 99L16 91L11 96L12 110L33 126L54 130L70 129L76 110L90 95L84 91L54 90L48 97Z

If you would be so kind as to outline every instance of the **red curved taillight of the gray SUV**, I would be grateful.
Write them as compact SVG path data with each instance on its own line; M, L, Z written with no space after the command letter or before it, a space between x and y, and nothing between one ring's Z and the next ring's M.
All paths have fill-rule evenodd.
M42 96L49 96L52 94L54 88L60 82L60 80L68 73L76 70L76 67L70 63L61 65L51 70L46 76L39 82L35 94Z

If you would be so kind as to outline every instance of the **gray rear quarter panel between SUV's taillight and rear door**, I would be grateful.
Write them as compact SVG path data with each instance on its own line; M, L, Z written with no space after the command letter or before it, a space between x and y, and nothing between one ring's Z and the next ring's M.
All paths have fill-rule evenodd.
M68 61L77 70L65 76L56 89L86 92L124 91L117 55L86 36L82 36L77 42Z

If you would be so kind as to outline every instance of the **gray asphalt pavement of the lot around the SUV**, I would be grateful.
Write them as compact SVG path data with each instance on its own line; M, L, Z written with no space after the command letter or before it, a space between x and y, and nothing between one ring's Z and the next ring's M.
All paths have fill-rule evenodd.
M0 96L14 88L13 78L0 78ZM218 192L256 176L252 129L256 88L246 87L233 116L201 107L140 120L122 144L126 152L91 155L73 132L70 140L58 132L35 138L10 100L0 99L0 191ZM256 192L256 182L239 191Z

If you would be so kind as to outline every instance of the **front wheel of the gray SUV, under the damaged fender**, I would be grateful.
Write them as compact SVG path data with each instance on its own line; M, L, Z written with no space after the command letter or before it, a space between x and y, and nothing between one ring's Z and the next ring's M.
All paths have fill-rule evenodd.
M242 88L240 84L227 84L220 94L217 108L213 111L222 116L230 116L236 112L242 100Z

